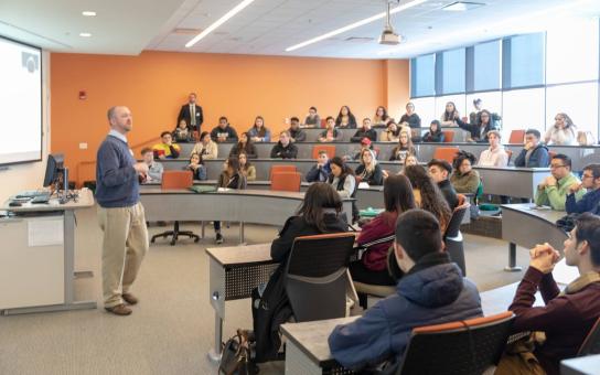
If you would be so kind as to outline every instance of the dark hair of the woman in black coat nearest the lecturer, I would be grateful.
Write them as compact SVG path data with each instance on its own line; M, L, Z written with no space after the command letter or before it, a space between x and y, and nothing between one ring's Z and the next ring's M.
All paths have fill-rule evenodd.
M304 201L298 210L307 224L315 226L320 232L328 232L324 216L325 210L334 210L335 215L342 212L342 199L332 185L324 182L315 182L310 185L304 194Z

